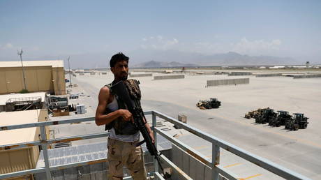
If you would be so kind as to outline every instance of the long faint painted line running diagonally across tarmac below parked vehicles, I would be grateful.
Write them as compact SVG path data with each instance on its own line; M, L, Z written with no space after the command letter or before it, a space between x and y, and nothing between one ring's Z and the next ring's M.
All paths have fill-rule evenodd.
M148 99L147 99L147 100L148 100ZM159 101L161 101L161 100L159 100ZM163 101L163 102L164 102L164 103L167 103L167 102L165 102L165 101ZM195 110L194 108L189 107L189 106L187 106L187 105L181 105L181 104L179 104L179 103L174 103L174 102L171 102L171 103L172 103L172 104L175 104L175 105L179 105L179 106L181 106L181 107L186 107L187 109L190 109L190 110ZM211 114L211 112L205 112L205 111L204 111L204 113ZM213 114L211 114L211 115L213 115ZM233 121L233 122L241 123L241 124L243 124L243 125L245 125L245 126L251 126L251 127L253 127L253 124L248 124L248 123L245 123L245 122L242 122L242 121L230 120L231 118L223 117L223 116L218 115L218 114L215 114L215 117L219 117L219 118L222 118L222 119L226 119L227 121ZM318 144L318 143L315 143L315 142L311 142L311 141L309 141L309 140L302 140L302 139L299 139L299 138L297 138L297 137L292 137L291 135L285 135L285 134L282 134L282 133L277 133L277 132L274 132L274 131L272 131L272 130L269 130L269 129L265 128L265 127L261 127L261 126L257 126L257 128L260 128L260 129L262 129L262 130L264 130L264 131L267 131L267 132L269 132L269 133L274 133L274 134L276 134L276 135L281 135L281 136L283 136L283 137L288 137L288 138L291 139L291 140L297 140L298 142L302 142L302 143L304 143L304 144L308 144L308 145L311 145L311 146L314 146L314 147L321 147L321 144Z

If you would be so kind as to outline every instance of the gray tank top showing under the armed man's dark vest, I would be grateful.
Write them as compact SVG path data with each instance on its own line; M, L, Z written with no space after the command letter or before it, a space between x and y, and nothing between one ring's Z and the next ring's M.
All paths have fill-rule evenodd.
M114 100L112 100L112 103L107 105L107 109L110 110L111 112L118 110L118 103L117 103L116 98L114 98ZM112 128L110 130L109 137L114 140L119 140L119 141L123 141L123 142L135 142L137 140L140 140L140 131L137 131L137 133L135 133L133 135L116 135L114 128Z

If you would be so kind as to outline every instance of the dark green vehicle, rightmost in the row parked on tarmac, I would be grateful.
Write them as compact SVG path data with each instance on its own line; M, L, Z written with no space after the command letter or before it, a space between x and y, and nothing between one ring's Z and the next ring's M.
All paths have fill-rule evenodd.
M308 127L308 117L304 117L302 113L294 113L294 117L285 122L285 129L298 130Z

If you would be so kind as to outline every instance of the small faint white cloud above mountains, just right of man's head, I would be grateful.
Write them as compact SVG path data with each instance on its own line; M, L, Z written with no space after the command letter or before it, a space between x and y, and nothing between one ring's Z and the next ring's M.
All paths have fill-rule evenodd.
M143 43L140 45L143 49L154 50L173 50L179 47L179 40L177 38L167 39L163 36L151 36L149 38L142 38Z

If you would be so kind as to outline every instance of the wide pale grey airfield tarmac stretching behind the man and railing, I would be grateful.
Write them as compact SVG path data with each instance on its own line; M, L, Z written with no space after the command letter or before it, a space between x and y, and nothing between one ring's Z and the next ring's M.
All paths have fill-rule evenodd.
M154 75L164 74L153 73ZM254 75L185 75L184 79L176 80L154 80L153 77L134 78L141 83L144 111L156 110L174 118L177 118L178 114L185 114L187 123L195 128L306 177L321 179L321 78L293 79L293 77L255 77ZM233 78L250 78L250 83L205 87L207 80ZM112 80L113 76L110 72L107 75L85 74L73 77L72 82L78 87L71 88L71 93L84 94L74 102L84 104L87 107L87 113L51 119L94 116L99 89ZM222 102L221 107L200 110L195 106L199 100L209 98L218 98ZM73 100L70 100L70 103L73 103ZM254 119L244 118L246 112L261 107L270 107L275 111L285 110L290 114L304 113L309 118L308 128L289 131L285 130L284 126L270 127L267 124L256 124ZM68 125L59 128L57 126L55 137L100 133L103 130L103 126L96 126L94 122L89 122L86 126L82 123L73 124L73 128ZM211 158L211 144L199 140L185 130L176 130L174 133L178 134L176 137L179 140ZM73 145L104 140L104 138L84 140L88 142L73 142ZM245 179L281 179L227 151L221 150L220 163Z

